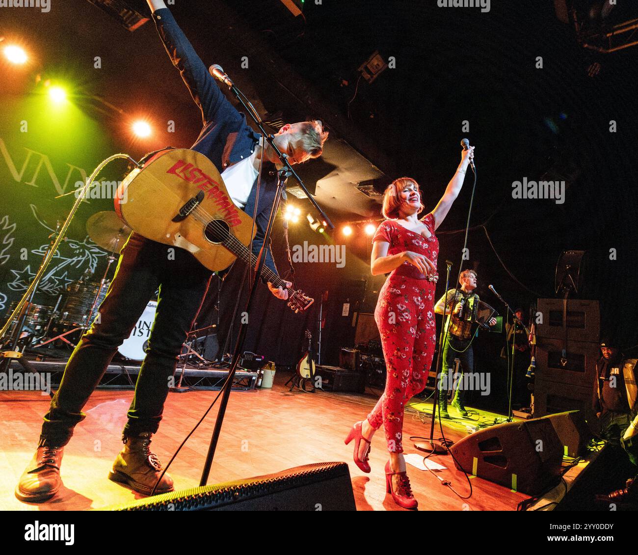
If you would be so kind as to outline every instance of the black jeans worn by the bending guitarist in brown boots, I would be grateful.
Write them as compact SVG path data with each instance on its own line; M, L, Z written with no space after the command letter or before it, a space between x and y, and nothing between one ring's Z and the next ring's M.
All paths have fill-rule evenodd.
M159 287L146 357L135 384L124 435L156 432L168 395L168 379L195 321L212 272L181 248L133 233L122 249L115 277L100 305L99 319L71 354L60 387L44 417L40 445L62 446L82 422L82 407L108 364L137 324Z

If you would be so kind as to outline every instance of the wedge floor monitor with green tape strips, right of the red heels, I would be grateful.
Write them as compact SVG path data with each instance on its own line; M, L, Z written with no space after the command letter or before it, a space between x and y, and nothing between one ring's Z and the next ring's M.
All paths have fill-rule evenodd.
M528 495L560 480L563 447L550 420L497 424L463 437L450 452L457 468Z

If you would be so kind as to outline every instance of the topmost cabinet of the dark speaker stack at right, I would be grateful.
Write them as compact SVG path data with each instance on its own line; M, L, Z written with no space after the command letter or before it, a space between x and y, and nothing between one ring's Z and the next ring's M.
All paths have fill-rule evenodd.
M565 340L567 331L568 342L597 343L600 339L598 301L570 299L566 306L563 299L538 299L538 312L543 317L542 323L537 324L538 338Z

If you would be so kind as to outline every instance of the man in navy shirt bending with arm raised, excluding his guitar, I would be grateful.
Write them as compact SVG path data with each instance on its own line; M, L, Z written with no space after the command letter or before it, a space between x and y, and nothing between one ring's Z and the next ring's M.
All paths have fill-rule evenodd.
M252 252L258 255L264 247L265 227L276 193L277 164L281 160L246 124L246 117L226 100L164 1L147 2L168 55L202 112L204 126L191 149L207 156L222 172L232 202L249 216L255 215ZM275 142L291 163L300 163L322 154L327 135L319 121L304 121L283 126ZM269 246L263 252L265 266L277 275ZM168 395L168 379L174 374L177 356L197 316L211 275L211 270L191 252L151 241L135 232L131 235L122 248L98 319L81 338L66 365L60 387L44 417L38 449L16 487L18 499L46 501L59 490L64 445L73 435L75 425L85 418L82 407L159 287L149 347L124 427L124 448L108 476L138 492L151 493L162 471L158 457L149 449L151 436L158 430ZM291 284L283 283L286 289L271 283L268 286L272 294L286 300ZM172 479L164 475L156 493L172 490Z

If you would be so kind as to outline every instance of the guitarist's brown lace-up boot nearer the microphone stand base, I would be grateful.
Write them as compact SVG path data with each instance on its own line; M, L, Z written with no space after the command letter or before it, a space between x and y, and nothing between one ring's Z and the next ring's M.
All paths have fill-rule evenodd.
M108 473L109 480L125 483L137 492L151 495L163 471L157 455L149 449L151 436L151 432L142 432L136 437L124 437L124 449L117 455L113 470ZM155 493L167 493L172 490L173 480L165 474L155 488Z

